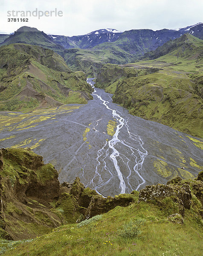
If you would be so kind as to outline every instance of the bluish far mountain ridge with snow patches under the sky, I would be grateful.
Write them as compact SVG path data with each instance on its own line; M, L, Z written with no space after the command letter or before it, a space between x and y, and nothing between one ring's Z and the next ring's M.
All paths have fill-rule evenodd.
M81 48L87 49L97 46L105 42L116 42L116 45L121 47L120 41L129 39L130 41L136 41L138 44L141 41L150 41L148 47L151 50L161 46L170 39L179 38L181 35L188 33L194 35L197 38L203 39L203 23L197 23L196 25L187 26L185 28L175 29L161 29L153 31L151 29L132 29L129 31L121 32L116 29L99 29L90 32L86 35L77 35L72 37L65 37L61 35L49 35L53 40L62 45L64 48ZM70 45L66 44L66 40L70 42Z

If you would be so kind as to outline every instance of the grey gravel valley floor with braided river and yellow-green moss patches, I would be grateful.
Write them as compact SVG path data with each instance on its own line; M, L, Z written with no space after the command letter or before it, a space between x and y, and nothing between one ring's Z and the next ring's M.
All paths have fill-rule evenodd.
M86 105L1 112L0 145L29 147L56 167L61 183L72 183L77 176L105 196L124 192L121 182L130 193L177 175L197 177L203 169L203 140L132 116L111 96L96 88ZM116 151L119 169L112 159Z

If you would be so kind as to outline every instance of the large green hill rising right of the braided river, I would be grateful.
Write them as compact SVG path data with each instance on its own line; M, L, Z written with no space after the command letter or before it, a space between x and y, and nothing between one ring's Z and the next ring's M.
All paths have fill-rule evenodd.
M104 65L95 86L135 116L203 137L203 40L183 35L164 45L171 48L155 60Z

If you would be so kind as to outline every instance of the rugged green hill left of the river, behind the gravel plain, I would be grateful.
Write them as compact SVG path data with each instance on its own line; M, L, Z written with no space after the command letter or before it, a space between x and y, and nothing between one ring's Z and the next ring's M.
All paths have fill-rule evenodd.
M92 87L50 49L9 44L0 47L0 111L30 111L87 103Z

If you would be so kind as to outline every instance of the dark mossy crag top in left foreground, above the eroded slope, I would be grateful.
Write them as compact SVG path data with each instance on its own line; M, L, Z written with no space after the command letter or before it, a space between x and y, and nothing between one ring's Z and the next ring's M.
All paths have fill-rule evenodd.
M15 198L21 202L25 200L25 196L51 202L59 196L58 172L51 164L45 165L43 157L19 148L2 149L2 153L8 175L12 175L8 168L9 162L20 168L16 169L15 181L12 184ZM11 179L9 181L12 183Z

